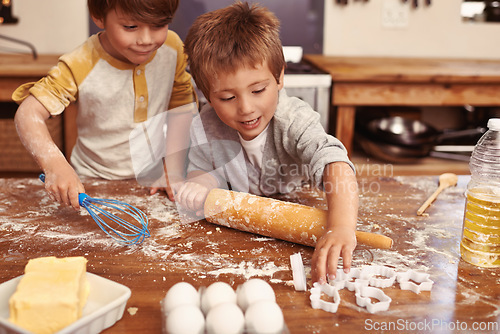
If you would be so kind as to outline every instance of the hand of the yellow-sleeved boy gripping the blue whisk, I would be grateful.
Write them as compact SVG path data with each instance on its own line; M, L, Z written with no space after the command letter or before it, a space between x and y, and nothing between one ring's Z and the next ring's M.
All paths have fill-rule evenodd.
M45 170L45 190L53 200L80 210L78 194L85 192L80 178L66 161L54 165Z

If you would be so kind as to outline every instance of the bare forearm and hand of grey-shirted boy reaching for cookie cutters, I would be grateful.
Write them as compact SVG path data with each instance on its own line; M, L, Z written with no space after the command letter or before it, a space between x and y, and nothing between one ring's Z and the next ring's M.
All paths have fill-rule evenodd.
M352 168L344 162L328 164L323 173L328 203L325 234L318 240L311 262L313 282L326 283L334 278L340 256L344 271L351 267L356 248L358 184Z

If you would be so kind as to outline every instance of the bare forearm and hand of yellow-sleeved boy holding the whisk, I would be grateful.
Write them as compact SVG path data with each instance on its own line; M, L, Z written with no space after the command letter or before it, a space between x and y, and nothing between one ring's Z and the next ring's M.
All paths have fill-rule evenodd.
M14 121L24 147L45 173L45 189L56 201L80 209L78 193L85 189L78 175L52 140L45 121L47 109L32 95L19 106Z

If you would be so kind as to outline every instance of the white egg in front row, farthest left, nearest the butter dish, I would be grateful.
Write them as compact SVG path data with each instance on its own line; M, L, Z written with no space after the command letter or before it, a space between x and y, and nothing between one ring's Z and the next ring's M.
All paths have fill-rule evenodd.
M170 311L165 328L168 334L203 334L205 318L198 306L181 305Z

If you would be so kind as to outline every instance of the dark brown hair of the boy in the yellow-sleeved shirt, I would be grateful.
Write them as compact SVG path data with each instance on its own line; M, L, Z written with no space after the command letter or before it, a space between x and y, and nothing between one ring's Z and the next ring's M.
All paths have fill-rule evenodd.
M179 0L87 0L89 13L105 20L110 10L120 10L138 22L164 26L172 22Z

